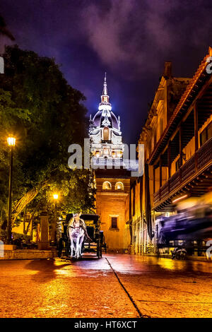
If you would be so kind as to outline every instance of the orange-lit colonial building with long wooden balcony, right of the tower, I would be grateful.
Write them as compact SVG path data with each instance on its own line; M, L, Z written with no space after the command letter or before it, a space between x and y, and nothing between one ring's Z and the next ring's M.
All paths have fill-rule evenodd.
M177 213L176 203L212 195L211 55L210 48L192 79L174 78L165 63L139 140L145 172L131 186L128 224L135 253L155 251L158 220Z

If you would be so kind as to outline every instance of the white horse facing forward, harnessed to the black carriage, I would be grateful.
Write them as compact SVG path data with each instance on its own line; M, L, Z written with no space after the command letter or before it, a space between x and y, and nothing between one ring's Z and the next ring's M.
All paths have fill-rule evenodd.
M76 213L69 222L68 235L71 240L71 257L73 257L73 252L75 253L76 259L82 256L81 248L83 244L83 239L86 232L86 223L80 218L81 214Z

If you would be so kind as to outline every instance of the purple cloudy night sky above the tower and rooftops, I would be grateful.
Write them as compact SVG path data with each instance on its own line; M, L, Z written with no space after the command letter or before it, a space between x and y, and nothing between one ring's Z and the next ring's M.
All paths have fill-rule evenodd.
M136 143L148 102L172 61L191 77L212 46L211 0L0 0L22 49L54 57L95 114L104 73L125 143Z

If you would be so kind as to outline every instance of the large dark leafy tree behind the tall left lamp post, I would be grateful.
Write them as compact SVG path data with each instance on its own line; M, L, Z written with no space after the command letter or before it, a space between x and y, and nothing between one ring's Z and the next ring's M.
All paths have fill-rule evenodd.
M26 198L32 211L39 201L50 208L57 189L61 208L90 211L94 202L92 175L89 170L70 170L67 165L69 145L83 146L86 136L85 97L66 82L54 59L16 45L6 47L4 60L5 74L0 82L1 215L6 211L8 186L6 136L11 133L17 139L13 201ZM37 196L31 195L34 199L30 201L30 195L25 194L33 191Z

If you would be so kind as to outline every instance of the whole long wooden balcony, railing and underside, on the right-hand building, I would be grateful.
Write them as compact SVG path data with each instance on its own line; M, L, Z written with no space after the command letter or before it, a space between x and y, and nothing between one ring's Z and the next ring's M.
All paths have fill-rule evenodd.
M212 138L189 158L179 170L154 194L155 211L172 211L171 199L181 191L201 196L212 186Z

